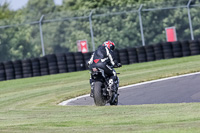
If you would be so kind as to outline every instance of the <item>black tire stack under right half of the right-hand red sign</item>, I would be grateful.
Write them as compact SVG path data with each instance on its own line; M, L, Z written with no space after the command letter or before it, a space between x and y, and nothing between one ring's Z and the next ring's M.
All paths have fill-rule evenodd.
M183 56L180 42L172 42L172 50L174 58Z

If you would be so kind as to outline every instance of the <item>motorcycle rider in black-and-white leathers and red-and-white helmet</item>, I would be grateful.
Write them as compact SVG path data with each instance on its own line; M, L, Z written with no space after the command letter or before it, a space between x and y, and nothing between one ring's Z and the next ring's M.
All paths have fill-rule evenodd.
M92 54L90 60L88 61L88 67L90 70L92 70L92 68L103 69L110 78L109 87L112 91L117 93L118 77L113 67L121 67L121 63L118 63L117 60L115 60L113 52L114 49L115 44L112 41L105 41L103 45L100 45ZM91 97L93 97L93 84L92 78L90 78Z

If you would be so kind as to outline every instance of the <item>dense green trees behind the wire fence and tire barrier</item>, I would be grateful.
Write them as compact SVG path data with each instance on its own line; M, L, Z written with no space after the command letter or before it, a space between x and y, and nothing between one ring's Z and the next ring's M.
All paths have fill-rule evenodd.
M188 0L63 0L59 6L53 0L29 0L17 11L5 3L0 6L0 62L42 56L38 23L42 15L46 54L76 52L76 41L83 39L92 51L91 11L95 47L112 40L121 49L142 45L137 12L141 4L142 9L159 9L187 3ZM198 38L199 7L190 7L190 13L194 36ZM146 45L166 41L165 28L171 26L176 27L179 40L190 40L188 8L142 10L141 17ZM5 25L8 27L2 27Z

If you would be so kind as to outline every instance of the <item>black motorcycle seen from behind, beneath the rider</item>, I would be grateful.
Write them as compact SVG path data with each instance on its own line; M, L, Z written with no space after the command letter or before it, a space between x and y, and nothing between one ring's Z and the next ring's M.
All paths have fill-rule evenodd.
M109 86L109 77L104 73L104 70L100 68L92 68L91 78L94 81L92 84L92 91L94 94L93 98L95 105L104 106L107 103L110 103L110 105L117 105L119 94L112 91ZM114 82L117 87L116 90L118 90L119 78L117 77L117 80Z

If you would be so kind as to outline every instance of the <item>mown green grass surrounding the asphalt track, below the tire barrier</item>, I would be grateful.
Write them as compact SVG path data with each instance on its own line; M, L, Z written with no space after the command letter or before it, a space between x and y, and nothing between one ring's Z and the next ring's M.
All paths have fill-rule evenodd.
M200 71L200 56L123 66L120 86ZM200 131L200 103L132 106L59 106L88 94L89 71L0 82L0 132Z

